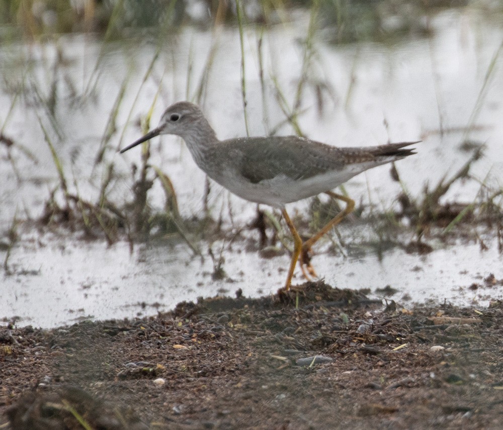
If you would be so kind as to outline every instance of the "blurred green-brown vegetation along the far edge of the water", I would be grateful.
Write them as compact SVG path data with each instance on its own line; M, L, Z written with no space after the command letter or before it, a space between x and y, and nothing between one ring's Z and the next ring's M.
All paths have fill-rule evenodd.
M158 34L184 24L210 27L236 24L242 4L249 23L277 22L288 10L320 8L320 25L333 43L385 41L406 35L428 35L428 17L469 0L3 0L0 3L2 41L37 39L71 32L95 32L109 38L137 31ZM471 7L503 10L503 2L476 1ZM161 33L162 33L161 32Z

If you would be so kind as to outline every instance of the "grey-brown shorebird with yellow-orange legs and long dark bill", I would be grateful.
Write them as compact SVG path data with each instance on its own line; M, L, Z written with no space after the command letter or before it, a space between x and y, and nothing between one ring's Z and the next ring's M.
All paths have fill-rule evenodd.
M415 154L414 149L405 147L418 142L338 148L298 136L219 140L198 106L178 102L164 111L156 128L121 150L121 154L159 134L182 137L199 168L230 192L281 210L294 240L284 291L290 289L299 260L307 278L316 276L310 263L311 247L355 207L354 200L330 190L367 169ZM346 207L318 233L302 242L285 205L320 193L344 201Z

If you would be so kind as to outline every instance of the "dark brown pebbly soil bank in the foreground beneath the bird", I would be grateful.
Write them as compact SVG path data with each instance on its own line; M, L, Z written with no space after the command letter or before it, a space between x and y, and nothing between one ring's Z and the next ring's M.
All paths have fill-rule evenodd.
M155 318L3 327L0 428L499 429L502 321L496 302L383 309L317 282Z

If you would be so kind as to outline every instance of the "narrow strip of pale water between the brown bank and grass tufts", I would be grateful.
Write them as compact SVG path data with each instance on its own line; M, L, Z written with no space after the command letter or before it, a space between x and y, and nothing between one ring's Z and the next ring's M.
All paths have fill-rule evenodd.
M488 245L493 245L488 243ZM240 244L224 246L226 276L214 280L212 259L194 257L185 244L142 245L130 254L118 243L44 240L18 246L11 260L13 274L4 277L0 314L19 316L18 324L53 327L81 319L127 318L173 309L181 300L219 295L246 297L275 293L283 284L287 254L261 258ZM319 275L339 288L376 289L387 285L397 292L390 299L407 306L411 301L447 300L454 304L486 306L488 297L503 299L501 287L487 288L490 273L503 278L496 246L480 251L476 244L458 244L418 256L401 249L387 251L379 261L372 253L361 258L315 254ZM294 283L303 279L297 273ZM468 287L479 284L476 290ZM408 295L409 298L405 298Z

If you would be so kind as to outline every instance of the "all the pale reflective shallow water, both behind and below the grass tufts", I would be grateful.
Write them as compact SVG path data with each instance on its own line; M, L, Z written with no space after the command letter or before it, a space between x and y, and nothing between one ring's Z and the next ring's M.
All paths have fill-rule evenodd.
M294 23L278 26L265 34L267 120L264 120L258 75L258 33L250 29L245 34L251 135L268 133L284 120L270 78L276 77L287 100L292 102L301 73L302 47L298 40L305 37L307 19L299 15ZM302 99L305 112L299 118L300 126L310 138L339 146L376 145L388 139L423 139L416 146L416 156L396 165L413 196L420 195L426 182L436 184L444 175L454 174L469 159L470 153L459 149L465 137L484 144L484 158L470 171L474 179L459 181L445 196L446 200L472 202L481 182L491 189L503 185L500 179L503 177L500 56L495 57L494 67L490 68L503 31L469 9L438 15L434 18L434 28L436 34L432 39L408 40L391 46L359 43L334 47L316 40L318 55L309 78L312 85L325 83L330 93L322 92L320 113L316 92L308 87ZM154 46L102 47L99 41L83 36L61 39L67 61L58 69L58 98L52 119L34 88L38 88L42 96L49 94L55 46L3 46L0 72L6 81L0 91L0 102L3 106L13 106L3 132L18 146L29 150L37 163L17 147L11 151L12 159L8 159L5 148L0 145L3 184L0 232L7 231L14 217L37 218L58 181L38 117L53 139L70 186L73 187L75 180L80 195L93 200L104 174L101 167L93 168L93 163L121 85L127 82L127 91L116 118L119 132L112 138L112 148L124 147L141 135L135 121L150 108L160 80L161 91L154 105L152 125L165 106L186 98L187 82L190 82L189 94L194 93L206 66L207 57L202 53L208 52L212 37L211 33L184 29L176 43L165 44L161 60L155 63L152 76L143 86L141 81L154 56ZM100 52L103 55L98 62ZM20 53L24 61L19 61ZM245 134L239 64L237 30L226 29L218 36L203 105L222 139ZM189 69L192 72L188 80ZM492 74L484 86L489 69ZM73 83L78 93L96 78L93 97L76 103L68 82ZM15 89L21 82L25 83L25 89L16 98ZM2 113L0 117L2 123L5 115ZM470 121L476 128L467 133L465 127ZM279 134L290 133L290 127L280 128ZM186 148L172 137L154 140L152 148L152 164L161 165L173 181L182 216L200 213L205 176L194 165ZM139 163L140 151L131 150L120 156L110 149L106 159L115 162L120 175L114 183L112 199L121 202L130 198L128 172L131 163ZM400 191L400 185L391 181L386 166L357 176L346 188L355 200L361 198L378 210L395 205L394 198ZM159 186L154 187L150 197L153 206L162 207L163 192ZM212 187L209 204L215 217L223 214L227 225L231 224L229 206L235 226L249 223L256 210L255 204L230 196L217 185ZM302 211L306 205L305 201L292 204L290 210ZM482 299L478 297L480 290L470 293L464 290L464 294L459 294L460 286L479 282L491 272L498 279L503 277L495 244L490 238L486 244L491 246L485 252L480 252L477 244L439 246L424 257L394 249L387 251L381 262L371 253L366 257L344 258L321 252L313 263L328 283L341 288L375 290L389 284L400 290L395 299L408 293L413 300L445 298L463 304L471 303L474 298ZM201 244L201 247L204 249L207 245ZM214 253L220 252L220 248L218 243L212 245ZM173 308L180 300L214 296L219 291L232 295L238 288L249 296L275 292L284 282L283 268L288 264L288 256L262 259L257 253L243 249L239 244L231 250L224 246L224 269L233 282L215 281L211 278L213 263L207 253L201 262L183 243L138 246L130 254L125 243L108 247L75 237L61 239L26 233L9 257L14 274L0 274L3 286L0 317L18 315L23 318L21 324L54 326L82 317L152 315L157 309ZM0 260L5 256L6 251L0 251ZM491 296L499 297L499 292L494 290L490 291Z

